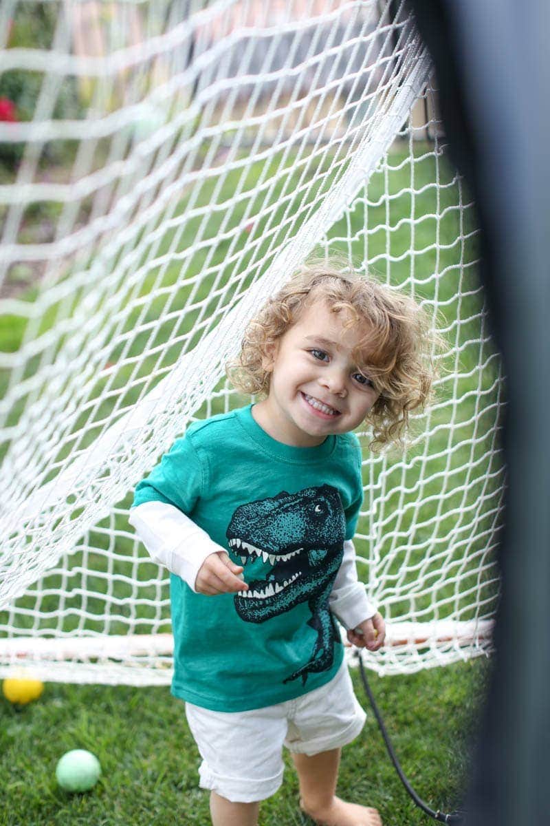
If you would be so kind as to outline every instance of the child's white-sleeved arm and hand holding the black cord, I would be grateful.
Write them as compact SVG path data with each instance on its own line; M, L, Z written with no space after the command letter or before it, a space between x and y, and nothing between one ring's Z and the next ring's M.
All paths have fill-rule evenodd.
M385 633L382 615L378 613L374 602L369 600L364 585L359 582L355 547L351 539L344 542L344 557L332 586L329 607L347 630L351 643L361 647L367 645L373 650L381 647ZM369 643L374 637L376 643L371 646Z

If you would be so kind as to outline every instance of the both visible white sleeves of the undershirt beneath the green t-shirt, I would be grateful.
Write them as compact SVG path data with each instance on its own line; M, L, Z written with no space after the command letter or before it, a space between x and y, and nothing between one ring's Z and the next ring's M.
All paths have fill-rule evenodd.
M210 553L227 553L189 516L165 502L143 502L132 508L129 524L134 526L155 562L181 577L195 593L195 580L204 560ZM357 577L351 539L344 543L344 557L332 586L329 606L346 629L370 619L377 610Z

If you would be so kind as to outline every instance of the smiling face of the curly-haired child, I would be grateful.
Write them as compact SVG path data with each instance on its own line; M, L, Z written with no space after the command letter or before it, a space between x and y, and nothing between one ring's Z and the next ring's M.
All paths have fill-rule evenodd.
M345 328L347 320L326 301L312 301L266 354L270 392L254 411L278 441L312 447L329 434L348 433L378 399L353 358L361 336L356 325Z

